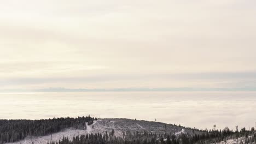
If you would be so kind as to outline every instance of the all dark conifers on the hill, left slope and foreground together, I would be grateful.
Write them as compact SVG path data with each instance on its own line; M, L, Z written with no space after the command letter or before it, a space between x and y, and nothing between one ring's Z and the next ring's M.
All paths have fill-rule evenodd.
M90 116L40 120L2 119L0 120L0 143L16 142L25 139L27 136L50 135L65 128L86 130L85 123L87 122L87 125L91 125L94 123L94 120L97 121L97 118ZM200 133L195 133L195 130L196 129L193 129L192 133L181 133L179 135L176 135L173 132L171 133L170 131L165 131L164 133L153 133L147 130L124 130L122 136L117 136L115 135L114 129L112 129L112 131L105 131L104 133L92 133L76 137L63 137L62 140L53 141L50 142L50 144L206 144L226 141L229 139L237 140L237 143L256 143L256 133L254 128L251 128L250 130L242 128L241 130L236 129L233 131L226 127L223 130L199 130ZM238 137L244 137L245 139L241 140L238 139Z

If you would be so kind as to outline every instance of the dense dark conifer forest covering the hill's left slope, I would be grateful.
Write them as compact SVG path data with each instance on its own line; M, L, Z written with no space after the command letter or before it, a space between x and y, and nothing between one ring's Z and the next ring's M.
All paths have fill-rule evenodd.
M19 141L27 136L48 135L70 127L86 129L85 122L93 123L94 120L90 116L40 120L0 119L0 143Z

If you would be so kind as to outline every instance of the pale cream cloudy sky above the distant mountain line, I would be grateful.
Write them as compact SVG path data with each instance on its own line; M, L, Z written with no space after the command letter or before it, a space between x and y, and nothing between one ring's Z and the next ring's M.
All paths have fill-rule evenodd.
M254 0L1 1L0 91L256 91L255 7Z

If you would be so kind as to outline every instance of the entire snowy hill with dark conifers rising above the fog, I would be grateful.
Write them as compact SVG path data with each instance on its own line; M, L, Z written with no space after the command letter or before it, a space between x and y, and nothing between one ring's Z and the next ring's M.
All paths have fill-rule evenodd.
M67 129L66 129L67 128ZM65 130L62 130L65 129ZM9 144L255 144L256 133L238 128L233 131L199 130L176 124L125 118L88 117L42 120L0 120L1 143ZM33 136L33 137L30 137ZM25 139L26 138L26 139ZM52 139L53 138L53 139ZM21 140L21 141L19 141Z

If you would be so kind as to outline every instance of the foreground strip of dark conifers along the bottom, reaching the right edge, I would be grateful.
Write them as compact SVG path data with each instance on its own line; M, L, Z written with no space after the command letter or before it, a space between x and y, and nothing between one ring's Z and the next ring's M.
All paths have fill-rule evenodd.
M206 144L206 143L216 143L224 141L226 139L236 139L241 136L245 136L245 141L237 141L237 143L255 143L256 135L254 129L251 131L246 131L244 128L241 131L232 131L225 128L223 131L214 130L206 131L202 135L186 135L182 134L176 136L171 133L165 134L154 134L144 131L144 133L125 131L122 137L117 137L114 135L114 130L110 133L104 134L86 134L82 136L73 137L63 137L59 142L52 142L51 144ZM248 137L251 135L251 137ZM238 140L238 139L237 139ZM49 142L48 142L49 144Z

